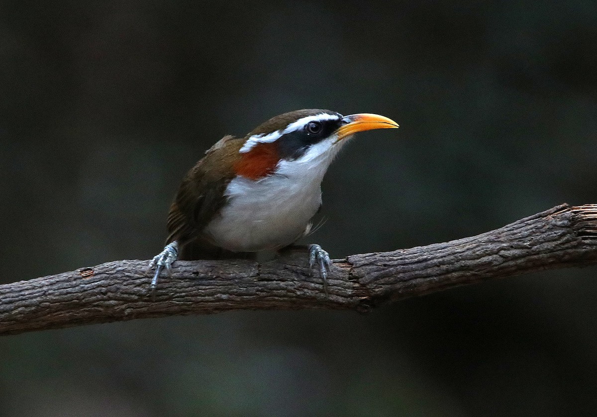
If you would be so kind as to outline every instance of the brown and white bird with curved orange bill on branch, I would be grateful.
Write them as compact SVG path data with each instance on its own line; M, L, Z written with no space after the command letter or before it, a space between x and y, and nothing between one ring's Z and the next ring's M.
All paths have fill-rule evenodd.
M303 109L272 117L247 135L226 135L205 152L180 183L168 213L164 250L153 257L151 292L162 270L178 259L247 257L280 251L309 234L321 208L321 182L355 133L398 123L371 113L343 116ZM310 270L327 293L332 262L309 245Z

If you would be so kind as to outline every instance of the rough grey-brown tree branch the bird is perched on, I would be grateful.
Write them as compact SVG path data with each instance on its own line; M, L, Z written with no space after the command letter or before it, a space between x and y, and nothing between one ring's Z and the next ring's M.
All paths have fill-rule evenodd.
M597 204L567 204L478 236L334 261L325 294L306 253L258 264L178 261L149 296L149 261L0 285L0 334L238 309L356 309L457 285L597 263Z

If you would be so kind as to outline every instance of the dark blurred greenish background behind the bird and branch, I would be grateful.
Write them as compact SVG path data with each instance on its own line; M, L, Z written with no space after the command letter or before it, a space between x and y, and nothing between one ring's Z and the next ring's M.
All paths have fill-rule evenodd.
M2 282L149 259L180 178L297 108L399 130L324 181L333 257L597 203L585 1L0 3ZM595 267L351 312L0 338L2 416L593 416Z

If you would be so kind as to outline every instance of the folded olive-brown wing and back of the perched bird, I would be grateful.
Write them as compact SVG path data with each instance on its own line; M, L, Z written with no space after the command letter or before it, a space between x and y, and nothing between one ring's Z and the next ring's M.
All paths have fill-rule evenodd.
M201 238L205 226L226 203L224 191L235 176L232 165L242 142L224 136L184 176L168 214L167 244L177 240L184 245Z

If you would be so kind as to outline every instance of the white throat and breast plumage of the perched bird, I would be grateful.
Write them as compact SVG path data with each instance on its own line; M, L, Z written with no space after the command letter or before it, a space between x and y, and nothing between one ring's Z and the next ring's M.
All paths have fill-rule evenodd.
M227 250L276 250L303 236L321 205L321 181L339 150L329 138L295 161L281 161L275 175L253 181L242 176L226 188L229 197L220 215L204 229Z

